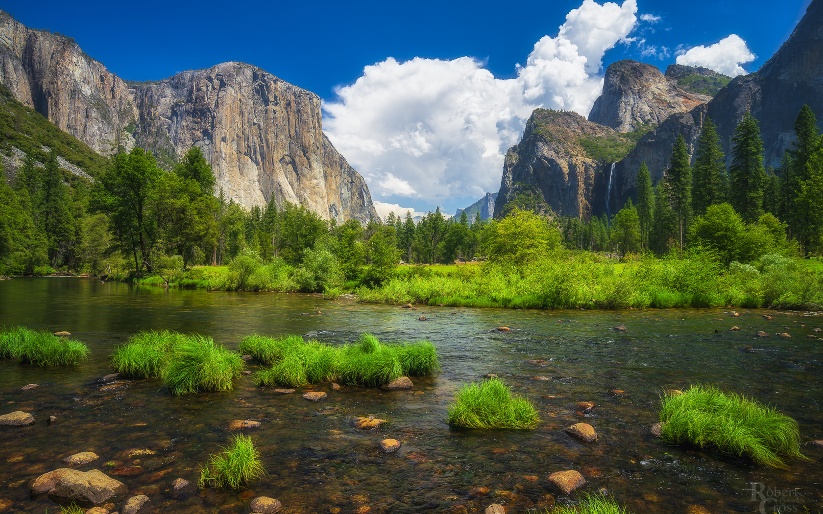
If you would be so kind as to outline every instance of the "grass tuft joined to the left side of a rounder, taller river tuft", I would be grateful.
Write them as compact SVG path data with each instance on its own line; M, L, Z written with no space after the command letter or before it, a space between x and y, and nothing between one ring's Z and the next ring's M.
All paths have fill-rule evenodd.
M144 331L114 350L111 365L131 378L161 377L175 345L187 336L174 331Z

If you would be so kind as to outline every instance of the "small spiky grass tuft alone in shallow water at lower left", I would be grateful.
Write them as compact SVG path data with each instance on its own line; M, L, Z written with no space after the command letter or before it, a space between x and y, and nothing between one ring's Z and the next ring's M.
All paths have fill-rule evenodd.
M260 453L247 435L232 438L228 447L211 456L200 470L198 487L212 485L224 489L239 489L254 479L266 475Z

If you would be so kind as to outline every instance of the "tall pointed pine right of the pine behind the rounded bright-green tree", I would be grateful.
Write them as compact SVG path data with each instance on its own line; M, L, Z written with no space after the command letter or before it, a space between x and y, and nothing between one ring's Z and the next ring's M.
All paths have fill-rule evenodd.
M729 203L746 223L754 223L763 214L763 141L758 121L746 113L734 131L732 165L729 168Z

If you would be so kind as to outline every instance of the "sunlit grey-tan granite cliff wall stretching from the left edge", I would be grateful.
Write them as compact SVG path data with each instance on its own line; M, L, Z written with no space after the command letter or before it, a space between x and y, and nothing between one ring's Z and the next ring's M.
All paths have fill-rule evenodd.
M192 146L246 207L272 197L338 221L377 218L365 181L323 134L320 98L246 63L127 83L63 36L0 12L0 81L101 154L151 150L169 167Z

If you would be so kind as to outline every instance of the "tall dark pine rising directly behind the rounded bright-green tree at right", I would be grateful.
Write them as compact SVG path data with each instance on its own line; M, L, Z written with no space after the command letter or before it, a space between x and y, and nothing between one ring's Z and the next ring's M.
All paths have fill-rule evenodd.
M695 215L704 215L709 206L726 201L726 155L712 118L706 118L695 149L691 207Z

